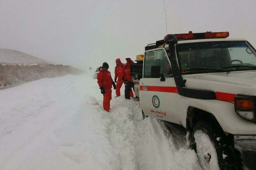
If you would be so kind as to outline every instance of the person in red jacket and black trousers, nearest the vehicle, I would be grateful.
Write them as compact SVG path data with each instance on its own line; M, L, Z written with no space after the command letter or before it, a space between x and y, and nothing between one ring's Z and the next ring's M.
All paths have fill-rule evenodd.
M134 63L130 58L126 58L126 64L123 66L122 70L122 79L125 81L125 90L124 90L124 97L126 99L133 98L133 91L132 88L134 88L134 82L132 77L130 76L130 65Z

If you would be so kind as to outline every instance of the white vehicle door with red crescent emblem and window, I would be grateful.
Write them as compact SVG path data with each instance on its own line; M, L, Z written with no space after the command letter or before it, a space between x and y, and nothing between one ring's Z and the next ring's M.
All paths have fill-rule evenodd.
M160 68L160 70L159 70ZM160 77L156 76L158 69ZM147 116L180 123L176 114L178 91L165 48L145 51L143 78L140 79L140 105Z

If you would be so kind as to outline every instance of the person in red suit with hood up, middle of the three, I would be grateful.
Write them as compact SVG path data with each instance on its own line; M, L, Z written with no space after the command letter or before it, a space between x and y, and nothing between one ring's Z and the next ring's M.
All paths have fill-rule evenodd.
M120 88L124 84L124 81L122 80L122 68L123 68L123 63L121 62L120 58L116 59L116 62L119 62L118 65L115 67L115 79L117 79L116 82L116 96L120 96Z

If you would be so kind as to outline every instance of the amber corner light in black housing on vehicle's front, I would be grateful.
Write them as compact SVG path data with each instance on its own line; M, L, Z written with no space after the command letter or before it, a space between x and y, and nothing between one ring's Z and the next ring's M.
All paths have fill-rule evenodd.
M235 96L235 112L239 116L249 121L256 123L256 97L247 95L237 95Z

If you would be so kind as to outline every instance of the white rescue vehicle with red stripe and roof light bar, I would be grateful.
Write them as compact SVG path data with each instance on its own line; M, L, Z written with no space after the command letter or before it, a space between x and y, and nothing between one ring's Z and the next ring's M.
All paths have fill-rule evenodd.
M203 170L255 170L256 50L228 36L190 31L149 44L135 93L144 118L186 128Z

